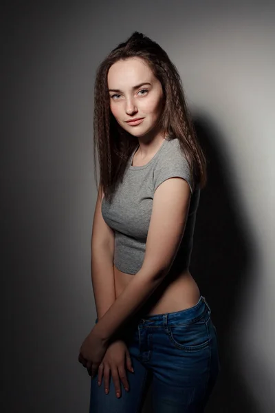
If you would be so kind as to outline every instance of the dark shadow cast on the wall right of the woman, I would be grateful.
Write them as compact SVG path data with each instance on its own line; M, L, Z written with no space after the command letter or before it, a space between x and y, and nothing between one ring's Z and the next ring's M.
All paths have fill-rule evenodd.
M245 286L250 283L253 260L252 236L239 218L238 200L232 188L230 167L220 134L209 120L194 119L197 137L208 158L208 183L201 191L195 225L190 273L212 310L217 328L221 372L210 396L206 413L259 413L244 372L238 366L234 346L235 321ZM142 413L151 413L151 385Z

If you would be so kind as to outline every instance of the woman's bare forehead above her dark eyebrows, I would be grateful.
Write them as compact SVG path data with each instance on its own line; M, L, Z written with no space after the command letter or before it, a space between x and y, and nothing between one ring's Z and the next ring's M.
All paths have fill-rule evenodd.
M155 76L147 63L140 58L129 58L111 65L107 81L109 88L131 87L140 82L153 82Z

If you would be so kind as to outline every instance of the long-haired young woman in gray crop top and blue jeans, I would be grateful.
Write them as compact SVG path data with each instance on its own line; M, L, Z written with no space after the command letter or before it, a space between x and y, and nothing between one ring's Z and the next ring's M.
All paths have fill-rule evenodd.
M78 357L92 376L89 411L141 412L151 383L153 412L203 412L219 349L188 268L206 158L175 65L139 32L98 67L94 144L98 318Z

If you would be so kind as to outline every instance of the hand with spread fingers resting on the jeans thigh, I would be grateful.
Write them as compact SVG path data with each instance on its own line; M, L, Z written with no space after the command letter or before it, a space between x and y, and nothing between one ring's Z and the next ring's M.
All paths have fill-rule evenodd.
M122 381L125 390L129 391L129 383L127 381L125 371L125 361L127 369L130 372L133 372L132 361L126 343L121 339L113 341L113 343L111 343L107 348L107 351L105 352L102 362L98 368L98 382L100 384L104 371L104 389L106 394L109 393L110 371L113 377L113 384L117 397L120 397L121 394L120 380Z

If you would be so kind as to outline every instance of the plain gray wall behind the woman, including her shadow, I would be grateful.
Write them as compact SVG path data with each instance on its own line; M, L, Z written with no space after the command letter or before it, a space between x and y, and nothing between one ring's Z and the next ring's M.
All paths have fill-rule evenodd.
M221 345L208 412L274 412L274 3L17 1L1 14L1 411L88 411L94 76L138 30L177 65L210 158L191 265Z

